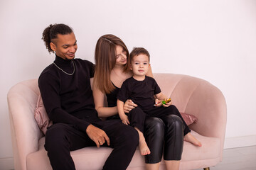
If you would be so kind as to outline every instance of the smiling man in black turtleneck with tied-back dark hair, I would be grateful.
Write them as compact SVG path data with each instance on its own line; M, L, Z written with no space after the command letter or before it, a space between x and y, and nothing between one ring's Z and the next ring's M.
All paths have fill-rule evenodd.
M94 64L75 59L78 49L73 30L64 24L50 25L43 41L55 61L43 70L38 86L50 120L45 148L53 169L75 169L70 151L88 146L109 146L113 151L103 169L127 169L138 145L134 128L119 120L97 117L90 78Z

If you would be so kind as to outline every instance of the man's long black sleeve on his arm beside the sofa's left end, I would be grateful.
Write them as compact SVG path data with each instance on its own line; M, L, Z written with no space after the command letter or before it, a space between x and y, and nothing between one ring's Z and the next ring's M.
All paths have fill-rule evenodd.
M75 125L76 128L85 132L90 123L70 115L61 108L60 96L58 95L60 84L57 77L47 73L41 74L41 77L38 79L38 86L43 99L43 105L53 123Z

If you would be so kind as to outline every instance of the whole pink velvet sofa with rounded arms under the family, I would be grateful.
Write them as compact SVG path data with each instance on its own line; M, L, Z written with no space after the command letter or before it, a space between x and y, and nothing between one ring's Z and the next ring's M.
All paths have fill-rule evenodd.
M208 81L181 74L154 74L154 78L179 111L198 118L189 127L203 147L184 142L180 169L208 169L221 162L227 115L221 91ZM16 84L8 94L16 170L51 169L43 147L45 137L34 118L38 94L37 79ZM71 152L71 155L76 169L93 170L102 169L111 151L107 147L86 147ZM144 169L144 157L139 154L139 150L135 152L128 169ZM160 169L165 169L164 162Z

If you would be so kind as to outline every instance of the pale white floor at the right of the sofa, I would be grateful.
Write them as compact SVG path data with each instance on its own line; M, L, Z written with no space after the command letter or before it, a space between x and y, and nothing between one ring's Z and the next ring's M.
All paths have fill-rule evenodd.
M256 170L256 146L224 149L223 161L217 166L210 167L210 170L223 169Z

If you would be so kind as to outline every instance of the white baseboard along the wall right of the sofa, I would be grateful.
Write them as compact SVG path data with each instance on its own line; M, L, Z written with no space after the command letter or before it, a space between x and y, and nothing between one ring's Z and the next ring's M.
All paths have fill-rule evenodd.
M256 145L256 135L242 137L226 137L224 149L235 147L250 147Z

